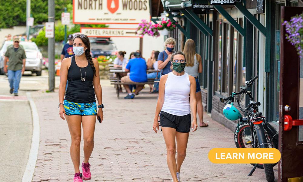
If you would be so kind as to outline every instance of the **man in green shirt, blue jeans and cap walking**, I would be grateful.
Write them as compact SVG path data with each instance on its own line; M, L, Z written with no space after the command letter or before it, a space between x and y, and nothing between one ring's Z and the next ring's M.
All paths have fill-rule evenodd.
M4 72L7 72L10 93L18 96L21 75L25 71L25 51L19 46L19 38L14 38L13 46L8 46L4 58ZM9 61L8 61L9 60ZM6 68L6 63L8 67Z

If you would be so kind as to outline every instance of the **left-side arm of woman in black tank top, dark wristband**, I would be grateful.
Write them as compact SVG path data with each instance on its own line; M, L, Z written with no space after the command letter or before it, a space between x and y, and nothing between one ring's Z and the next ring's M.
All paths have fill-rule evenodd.
M65 58L62 60L62 63L60 66L59 103L63 103L63 101L64 101L68 66L69 66L70 62L71 62L71 58ZM60 104L59 107L60 107L59 115L62 118L62 120L65 120L64 106L62 104Z

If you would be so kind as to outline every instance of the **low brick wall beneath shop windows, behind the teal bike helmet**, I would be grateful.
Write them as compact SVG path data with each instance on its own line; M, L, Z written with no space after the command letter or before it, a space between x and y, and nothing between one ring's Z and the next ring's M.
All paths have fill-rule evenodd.
M223 113L222 113L224 106L225 106L225 104L221 103L220 97L213 95L212 96L211 118L213 120L217 121L218 123L224 125L225 127L230 129L231 131L235 131L235 129L238 125L238 120L231 121L231 120L226 119L223 116ZM244 107L244 106L241 105L241 107ZM238 109L238 107L237 107L237 109Z

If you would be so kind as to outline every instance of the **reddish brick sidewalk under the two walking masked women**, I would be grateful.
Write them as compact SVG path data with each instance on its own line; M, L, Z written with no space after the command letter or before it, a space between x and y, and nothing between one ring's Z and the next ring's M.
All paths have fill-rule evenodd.
M104 121L102 124L97 122L95 129L90 181L171 181L162 133L156 134L152 130L157 95L148 94L149 88L146 88L135 99L125 100L117 99L112 86L102 86L102 89ZM58 93L37 92L32 93L32 97L38 108L41 127L33 181L72 181L71 139L67 123L58 114ZM234 148L235 143L233 132L211 120L207 114L205 121L209 121L209 127L190 133L181 181L266 181L263 169L247 176L253 167L250 164L211 163L209 150ZM274 172L277 181L277 166Z

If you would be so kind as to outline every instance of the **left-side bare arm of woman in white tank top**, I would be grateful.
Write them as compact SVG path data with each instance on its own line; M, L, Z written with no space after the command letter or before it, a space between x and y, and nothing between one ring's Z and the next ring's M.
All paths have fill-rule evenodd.
M164 104L164 91L165 91L166 80L167 80L167 75L163 75L163 76L161 76L160 82L159 82L159 97L158 97L156 113L155 113L155 118L154 118L154 125L153 125L153 129L156 133L158 133L156 128L158 128L158 130L159 130L158 117L160 115L160 112L161 112L163 104Z

